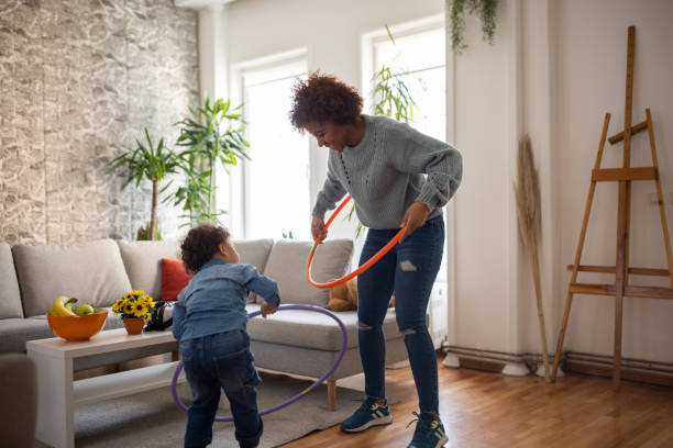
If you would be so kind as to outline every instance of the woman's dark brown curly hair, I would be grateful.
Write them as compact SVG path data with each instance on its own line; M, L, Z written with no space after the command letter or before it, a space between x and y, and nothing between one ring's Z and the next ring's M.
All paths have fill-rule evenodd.
M362 97L357 89L333 75L312 71L307 80L297 80L293 92L289 119L299 132L304 132L310 122L355 123L362 113Z

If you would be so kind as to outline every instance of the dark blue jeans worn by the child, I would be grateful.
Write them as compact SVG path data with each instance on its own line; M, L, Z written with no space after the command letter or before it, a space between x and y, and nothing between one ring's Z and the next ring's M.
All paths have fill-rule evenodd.
M257 412L260 376L244 329L180 340L180 355L194 402L187 412L185 447L212 441L212 423L223 390L231 405L241 447L256 447L264 430Z

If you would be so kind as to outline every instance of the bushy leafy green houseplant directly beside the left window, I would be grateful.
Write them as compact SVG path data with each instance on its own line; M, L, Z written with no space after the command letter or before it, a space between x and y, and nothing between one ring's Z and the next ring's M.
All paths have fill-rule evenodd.
M202 107L189 108L191 116L175 123L179 126L176 145L185 148L179 154L180 168L185 173L185 184L166 199L180 206L181 216L189 223L219 221L227 213L216 210L214 176L218 161L227 170L243 157L250 159L244 137L245 122L230 101L216 100L212 104L206 98Z

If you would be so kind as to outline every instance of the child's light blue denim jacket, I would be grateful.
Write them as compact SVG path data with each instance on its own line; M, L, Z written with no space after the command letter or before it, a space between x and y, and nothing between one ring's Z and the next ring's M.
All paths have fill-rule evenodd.
M245 304L252 291L278 306L280 289L254 266L228 264L213 258L206 262L178 294L173 309L173 335L186 340L216 333L243 329Z

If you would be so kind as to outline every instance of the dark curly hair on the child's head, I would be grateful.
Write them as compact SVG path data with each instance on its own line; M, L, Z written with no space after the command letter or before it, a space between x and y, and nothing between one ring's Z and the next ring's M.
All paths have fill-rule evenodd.
M196 273L227 243L231 234L222 226L199 224L187 233L180 244L183 266L189 273Z

